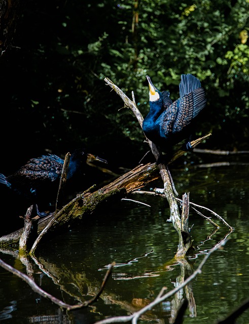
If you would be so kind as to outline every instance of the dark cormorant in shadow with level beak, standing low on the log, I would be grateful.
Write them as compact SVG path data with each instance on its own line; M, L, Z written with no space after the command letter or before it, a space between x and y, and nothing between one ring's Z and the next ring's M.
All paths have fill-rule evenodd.
M75 178L87 162L94 160L107 163L106 160L86 153L83 149L75 150L70 156L67 180ZM37 205L47 199L54 200L57 195L63 164L64 160L55 154L31 158L14 174L7 177L0 174L0 184L21 195L29 206ZM40 212L38 207L37 213L41 217L47 215L45 212Z

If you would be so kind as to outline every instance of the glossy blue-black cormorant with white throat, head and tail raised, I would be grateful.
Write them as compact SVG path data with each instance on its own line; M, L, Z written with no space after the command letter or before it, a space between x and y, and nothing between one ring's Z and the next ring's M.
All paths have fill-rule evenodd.
M172 146L190 138L193 120L206 105L204 89L192 74L182 74L180 98L172 103L169 92L156 89L146 76L150 88L150 111L143 122L146 137L167 152ZM191 150L190 142L186 149Z

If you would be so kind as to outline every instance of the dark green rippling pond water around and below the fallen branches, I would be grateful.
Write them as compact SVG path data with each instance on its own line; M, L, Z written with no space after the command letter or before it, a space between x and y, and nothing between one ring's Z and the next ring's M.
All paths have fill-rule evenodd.
M190 191L190 200L222 216L234 232L223 250L213 253L188 287L192 307L184 323L215 323L243 300L249 287L249 177L248 166L227 166L171 171L180 195ZM161 186L161 182L153 186ZM96 294L106 266L116 262L112 277L97 302L75 311L61 310L49 300L34 293L20 278L0 268L0 321L3 323L94 323L109 316L127 315L153 301L161 288L174 288L183 266L172 258L177 248L177 234L167 222L169 209L161 197L132 195L151 208L120 201L109 210L94 215L81 227L42 245L37 264L32 261L35 281L48 293L69 304L90 299ZM210 216L206 212L206 216ZM189 259L191 273L208 250L227 234L221 227L209 239L214 227L190 210L190 226L196 250ZM26 273L26 267L15 257L0 257ZM191 270L192 269L192 270ZM150 322L170 323L174 297L146 313ZM249 310L237 320L248 323Z

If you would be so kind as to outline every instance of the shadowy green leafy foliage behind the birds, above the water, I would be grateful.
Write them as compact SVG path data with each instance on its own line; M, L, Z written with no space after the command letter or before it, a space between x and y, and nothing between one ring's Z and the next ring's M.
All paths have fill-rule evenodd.
M200 78L208 105L204 147L248 150L249 4L246 1L25 1L0 60L1 172L73 148L133 167L148 150L109 77L146 115L146 75L172 99L182 73Z

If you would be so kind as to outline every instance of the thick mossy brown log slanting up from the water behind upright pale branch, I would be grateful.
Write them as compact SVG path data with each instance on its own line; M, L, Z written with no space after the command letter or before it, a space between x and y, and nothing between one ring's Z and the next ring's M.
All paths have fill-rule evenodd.
M199 138L191 142L191 145L195 147L209 136L210 134ZM170 163L185 153L184 151L177 151ZM76 222L80 222L85 217L92 215L97 208L101 207L103 204L109 203L112 199L118 200L124 198L128 193L143 188L150 182L159 179L160 174L158 171L159 168L156 163L139 165L101 189L93 193L86 192L75 197L57 214L51 214L39 221L33 220L33 223L36 223L34 227L37 227L37 235L40 235L51 221L51 235L52 233L55 235L56 232L60 232L62 226L65 228L73 226ZM10 247L12 245L18 245L22 232L23 228L0 237L0 246Z

